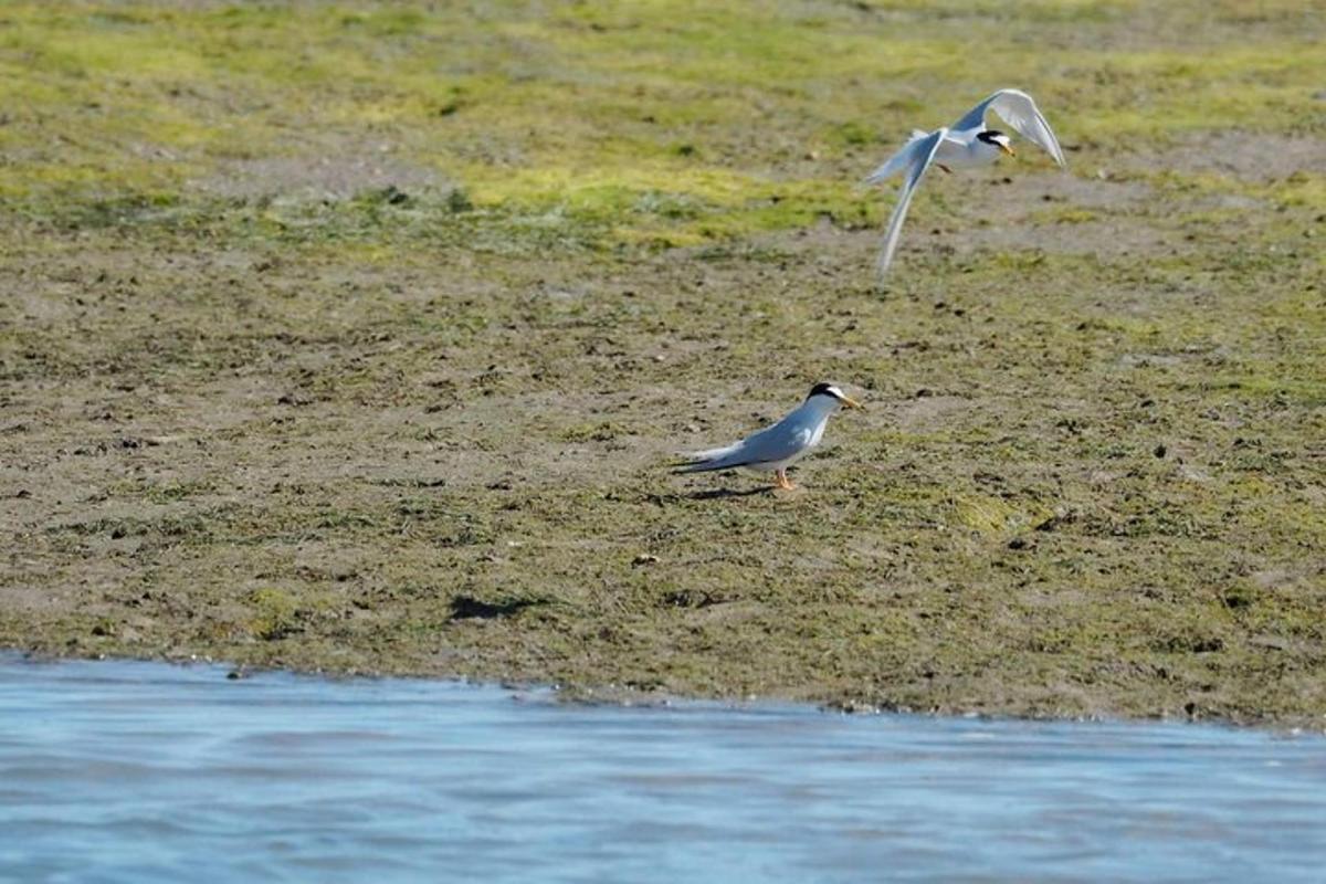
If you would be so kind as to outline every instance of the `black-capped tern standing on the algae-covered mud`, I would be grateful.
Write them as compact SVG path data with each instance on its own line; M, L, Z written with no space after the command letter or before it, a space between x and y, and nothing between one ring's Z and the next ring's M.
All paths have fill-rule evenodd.
M679 473L701 473L711 469L745 467L774 476L774 486L796 488L788 481L788 467L801 460L819 444L829 417L839 408L863 408L831 383L817 383L806 400L786 417L724 448L711 448L688 455L693 464L680 467Z

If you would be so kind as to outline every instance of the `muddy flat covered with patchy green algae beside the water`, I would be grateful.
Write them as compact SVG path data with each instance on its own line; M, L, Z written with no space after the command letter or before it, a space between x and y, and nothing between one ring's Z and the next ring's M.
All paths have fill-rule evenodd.
M485 9L0 13L0 644L1321 722L1311 4Z

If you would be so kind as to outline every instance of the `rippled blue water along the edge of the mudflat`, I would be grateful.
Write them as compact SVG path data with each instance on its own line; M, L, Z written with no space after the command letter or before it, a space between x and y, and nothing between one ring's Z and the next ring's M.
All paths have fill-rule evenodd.
M1326 740L0 656L0 880L1326 877Z

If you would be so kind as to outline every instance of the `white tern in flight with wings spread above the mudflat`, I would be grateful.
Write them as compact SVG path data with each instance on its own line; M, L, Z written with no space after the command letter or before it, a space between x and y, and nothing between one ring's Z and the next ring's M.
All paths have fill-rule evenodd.
M1063 150L1050 131L1050 125L1041 115L1041 110L1030 95L1017 89L1000 89L963 114L963 118L952 126L943 126L932 133L912 131L911 139L903 148L866 179L867 184L878 184L899 172L906 174L902 191L898 193L898 204L894 205L894 213L888 219L884 248L879 252L879 276L888 272L894 249L898 248L898 235L903 229L903 219L907 217L907 207L911 205L911 197L931 166L939 166L949 172L953 168L988 166L998 159L1000 154L1014 156L1008 135L985 127L985 111L989 110L1002 117L1022 138L1045 148L1061 167L1066 166Z

